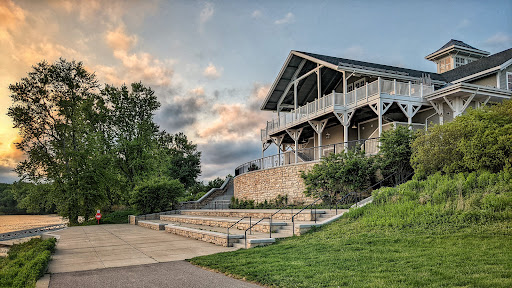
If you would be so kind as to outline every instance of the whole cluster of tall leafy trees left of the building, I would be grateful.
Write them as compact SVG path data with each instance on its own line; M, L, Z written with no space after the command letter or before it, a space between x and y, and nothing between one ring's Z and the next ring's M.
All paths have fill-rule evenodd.
M60 59L36 64L9 89L8 115L22 138L16 147L27 156L15 171L44 184L17 194L25 207L44 196L45 205L74 222L99 208L134 203L131 192L141 183L146 190L139 194L154 191L152 184L180 187L173 179L189 188L201 173L197 146L183 133L160 130L153 119L160 103L142 83L102 88L82 62ZM148 180L154 178L161 181ZM167 193L180 196L176 191Z

